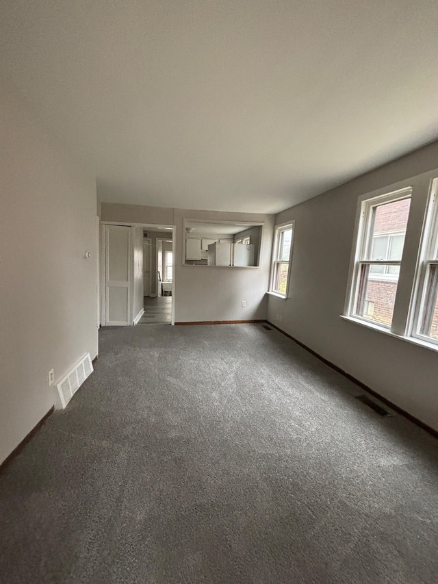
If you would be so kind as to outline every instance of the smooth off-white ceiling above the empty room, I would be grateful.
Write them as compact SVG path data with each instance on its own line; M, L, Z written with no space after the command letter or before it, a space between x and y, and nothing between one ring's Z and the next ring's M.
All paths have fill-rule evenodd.
M278 212L438 138L436 0L2 0L103 201Z

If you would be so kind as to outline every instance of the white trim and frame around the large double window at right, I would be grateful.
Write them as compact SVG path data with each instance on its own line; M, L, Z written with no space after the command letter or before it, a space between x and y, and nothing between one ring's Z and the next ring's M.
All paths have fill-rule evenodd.
M425 261L425 255L428 250L425 250L424 248L425 246L427 247L429 242L430 229L433 229L434 225L438 226L438 205L433 206L433 218L430 213L433 199L436 196L435 191L437 186L438 170L432 170L428 173L417 175L410 179L359 196L354 231L355 235L353 238L350 268L348 272L344 314L341 315L345 320L356 322L364 327L395 336L396 338L435 351L438 351L438 342L435 342L435 340L426 337L425 335L419 335L416 331L418 320L422 314L422 303L417 303L417 297L419 294L423 294L424 277L426 274L424 264L431 263L431 260ZM411 207L409 211L407 231L405 233L403 255L400 262L400 276L398 279L396 303L394 305L391 327L385 327L354 314L356 286L353 286L353 284L355 283L355 272L357 270L359 257L363 257L362 255L359 255L363 251L361 246L367 241L367 238L363 237L363 229L365 226L364 222L361 220L361 214L363 212L363 203L365 201L369 202L372 201L372 199L382 197L379 200L379 203L384 203L384 195L387 195L387 198L391 200L394 198L395 194L399 194L398 198L402 198L403 191L406 191L409 188L412 190ZM435 237L438 237L438 235L435 234ZM361 242L361 246L358 245L358 242ZM424 301L424 299L422 299L422 301Z

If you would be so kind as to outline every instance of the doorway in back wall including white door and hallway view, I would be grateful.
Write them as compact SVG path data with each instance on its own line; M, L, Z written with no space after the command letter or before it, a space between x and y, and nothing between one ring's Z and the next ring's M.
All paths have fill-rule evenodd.
M101 224L101 326L175 324L175 226Z

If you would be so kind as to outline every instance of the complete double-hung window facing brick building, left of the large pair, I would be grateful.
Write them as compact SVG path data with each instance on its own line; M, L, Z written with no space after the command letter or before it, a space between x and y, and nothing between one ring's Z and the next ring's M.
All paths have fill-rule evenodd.
M391 327L410 205L411 188L363 201L352 316Z

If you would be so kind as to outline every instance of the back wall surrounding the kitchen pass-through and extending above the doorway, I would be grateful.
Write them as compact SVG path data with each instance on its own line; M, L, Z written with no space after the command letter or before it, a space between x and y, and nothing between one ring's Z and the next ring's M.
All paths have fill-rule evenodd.
M265 223L260 268L183 266L183 220ZM175 322L266 318L274 216L102 203L103 221L176 225ZM246 307L242 307L246 301Z

